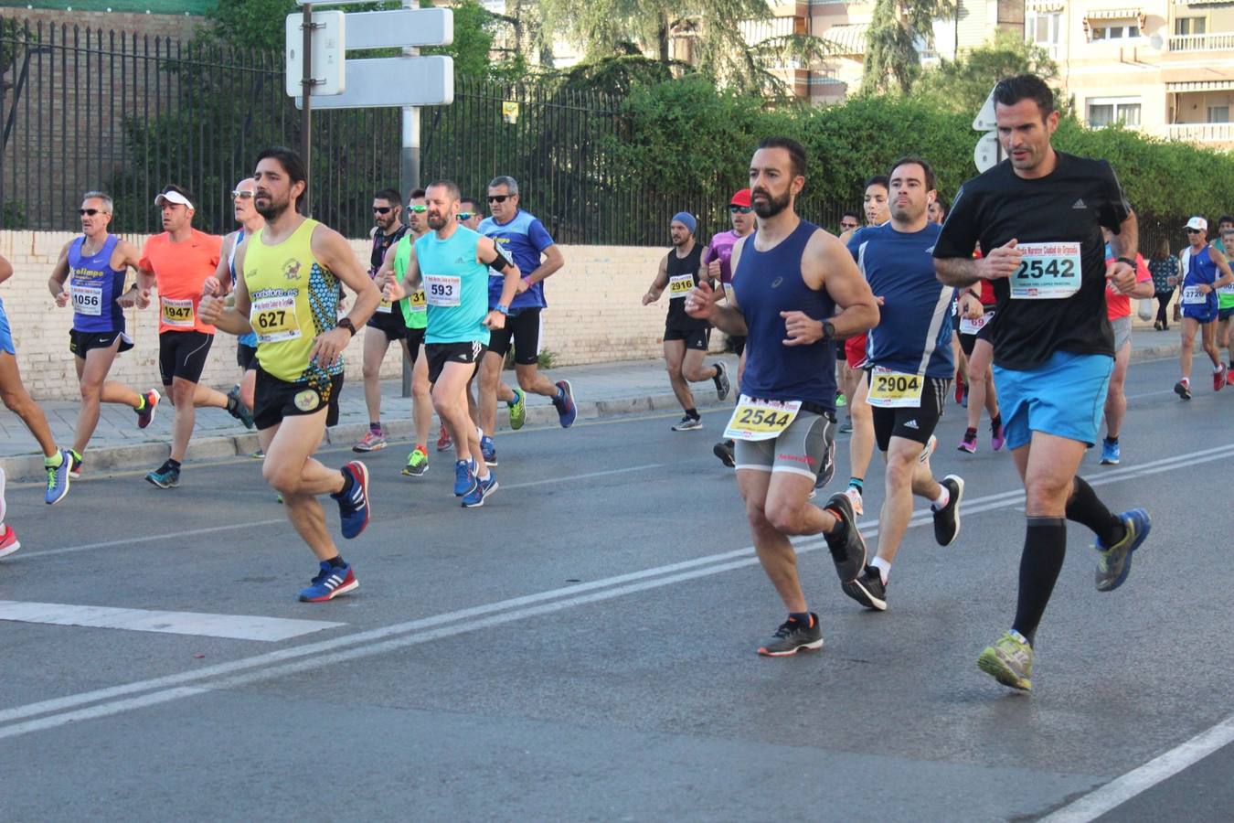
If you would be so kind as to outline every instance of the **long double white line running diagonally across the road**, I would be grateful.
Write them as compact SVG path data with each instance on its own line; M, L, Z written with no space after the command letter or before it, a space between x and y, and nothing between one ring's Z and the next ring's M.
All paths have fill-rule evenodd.
M1186 468L1196 463L1219 460L1234 454L1234 443L1223 447L1178 454L1162 460L1155 460L1140 466L1127 466L1106 474L1098 482L1130 480L1141 475L1157 474L1171 469ZM1023 490L1012 490L965 502L964 515L975 515L998 508L1009 508L1023 501ZM929 511L914 512L909 526L922 526L932 522ZM877 526L871 523L861 527L866 537L877 534ZM798 553L805 554L826 545L821 537L811 537L795 542ZM0 739L17 737L31 732L65 726L74 721L109 717L146 706L154 706L180 697L206 693L215 689L227 689L246 684L270 680L297 671L318 669L331 663L354 660L370 655L401 649L408 645L427 643L443 637L464 634L492 626L511 623L518 619L537 617L565 608L573 608L596 601L610 600L627 593L659 589L684 580L706 577L733 569L758 564L754 548L747 547L733 552L684 560L642 571L605 577L591 582L552 589L534 595L524 595L482 606L445 612L405 623L347 634L329 640L321 640L289 649L280 649L262 655L254 655L231 663L205 666L195 671L183 671L163 677L135 681L89 692L68 695L52 700L27 703L0 711ZM555 601L555 602L553 602ZM201 681L201 686L190 686ZM141 695L127 697L128 695ZM123 697L125 700L115 700ZM111 701L111 702L104 702ZM100 703L89 706L90 703ZM89 708L79 708L89 706ZM46 714L47 717L39 717ZM26 722L14 723L12 721Z

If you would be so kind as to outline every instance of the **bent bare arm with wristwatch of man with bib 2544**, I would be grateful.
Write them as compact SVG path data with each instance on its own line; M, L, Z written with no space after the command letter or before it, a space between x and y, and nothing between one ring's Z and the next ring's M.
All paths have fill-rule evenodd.
M824 231L814 232L801 258L801 276L811 289L826 289L830 299L843 311L829 318L835 327L835 337L854 337L879 325L879 301L870 291L870 284L856 268L853 254L834 236ZM792 321L802 312L782 312L790 331L790 339L813 343L823 337L827 317L806 318L801 334L792 334ZM800 318L797 318L800 320Z

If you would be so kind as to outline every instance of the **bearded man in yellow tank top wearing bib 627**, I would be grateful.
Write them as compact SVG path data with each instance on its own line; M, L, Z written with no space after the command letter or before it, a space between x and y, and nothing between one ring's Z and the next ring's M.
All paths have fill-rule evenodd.
M343 537L354 538L369 523L369 473L359 460L334 470L312 455L326 426L338 420L343 349L381 292L342 234L296 211L307 185L299 154L265 149L253 179L265 228L236 252L236 268L244 273L236 283L236 305L226 308L221 299L205 296L199 311L204 322L230 334L257 334L253 420L265 450L262 474L283 495L288 518L320 563L300 600L322 602L360 584L326 531L317 496L338 501ZM339 280L355 291L355 302L336 320Z

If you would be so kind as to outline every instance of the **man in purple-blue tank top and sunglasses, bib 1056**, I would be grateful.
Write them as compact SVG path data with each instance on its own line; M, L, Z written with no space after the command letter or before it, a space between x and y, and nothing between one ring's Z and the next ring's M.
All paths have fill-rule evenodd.
M78 412L73 440L72 476L81 474L85 447L99 426L101 403L120 403L137 412L137 426L149 426L159 394L151 389L138 394L128 386L107 380L111 364L120 352L133 348L125 333L125 308L149 305L149 294L137 286L125 291L128 268L137 268L137 247L107 232L111 223L111 197L88 191L81 199L81 236L60 249L47 287L57 306L73 306L69 350L75 357L81 410Z

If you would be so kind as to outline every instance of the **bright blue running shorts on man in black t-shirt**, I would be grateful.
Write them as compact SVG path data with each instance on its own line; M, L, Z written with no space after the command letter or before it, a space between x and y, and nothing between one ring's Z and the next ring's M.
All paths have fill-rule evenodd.
M1055 352L1030 371L995 365L1007 447L1028 445L1044 432L1088 445L1097 442L1114 358Z

